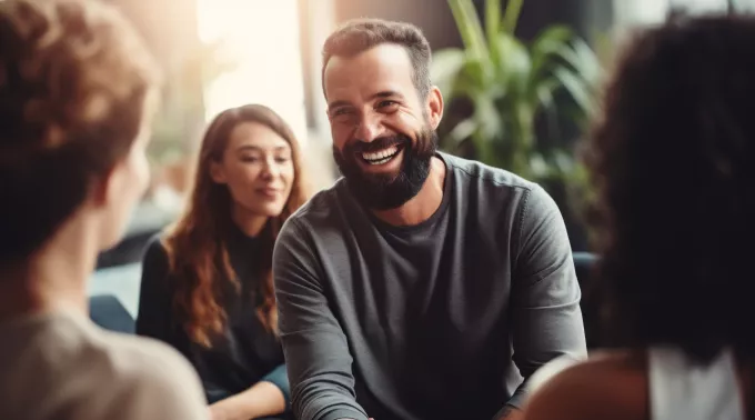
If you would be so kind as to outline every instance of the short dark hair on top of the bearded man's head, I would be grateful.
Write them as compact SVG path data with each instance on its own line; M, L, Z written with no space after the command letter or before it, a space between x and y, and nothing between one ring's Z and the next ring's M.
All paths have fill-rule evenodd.
M431 49L420 28L405 22L382 19L351 20L333 32L323 47L322 81L325 92L325 67L333 56L353 57L382 43L393 43L406 49L412 61L412 80L424 99L430 92Z

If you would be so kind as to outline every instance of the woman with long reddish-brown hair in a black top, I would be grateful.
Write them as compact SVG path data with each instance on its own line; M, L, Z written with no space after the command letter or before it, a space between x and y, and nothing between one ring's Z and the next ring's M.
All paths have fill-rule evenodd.
M213 419L286 411L272 250L305 200L289 126L263 106L232 108L207 130L184 214L148 247L137 333L194 364Z

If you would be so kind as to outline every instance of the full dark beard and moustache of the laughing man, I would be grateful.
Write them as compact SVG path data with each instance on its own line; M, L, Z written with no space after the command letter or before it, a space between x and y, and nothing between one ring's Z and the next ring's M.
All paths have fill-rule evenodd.
M403 161L397 173L365 173L356 161L362 152L383 150L390 146L403 148ZM404 134L382 137L371 142L354 141L343 151L333 146L333 158L346 179L351 193L373 210L389 210L414 198L430 176L430 162L437 150L437 133L425 128L416 141ZM396 158L393 158L396 159Z

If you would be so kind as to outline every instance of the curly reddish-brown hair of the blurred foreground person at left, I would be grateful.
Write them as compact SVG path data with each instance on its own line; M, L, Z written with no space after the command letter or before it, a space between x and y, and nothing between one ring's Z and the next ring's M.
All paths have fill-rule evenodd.
M38 249L125 158L158 82L112 7L0 1L0 261Z

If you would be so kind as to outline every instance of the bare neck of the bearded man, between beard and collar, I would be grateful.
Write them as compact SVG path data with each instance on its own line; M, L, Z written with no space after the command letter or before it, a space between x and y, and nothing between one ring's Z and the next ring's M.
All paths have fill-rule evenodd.
M445 171L445 163L433 157L430 161L430 176L416 196L400 208L373 211L374 214L393 226L414 226L430 219L443 201Z

